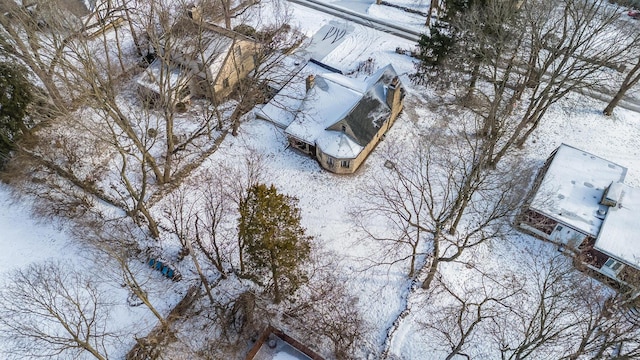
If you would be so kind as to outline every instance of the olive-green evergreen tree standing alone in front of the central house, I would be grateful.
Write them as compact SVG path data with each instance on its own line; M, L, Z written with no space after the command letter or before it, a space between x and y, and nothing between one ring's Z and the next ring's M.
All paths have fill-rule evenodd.
M244 244L245 275L270 289L276 303L307 281L303 267L311 237L300 226L297 202L273 185L258 184L240 203L238 236Z

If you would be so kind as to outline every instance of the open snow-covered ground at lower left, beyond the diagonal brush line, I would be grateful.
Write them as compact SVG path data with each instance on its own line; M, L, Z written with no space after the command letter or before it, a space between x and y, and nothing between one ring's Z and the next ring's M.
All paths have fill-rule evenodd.
M66 220L42 218L32 212L32 205L28 199L14 198L12 189L0 184L0 286L11 281L13 271L33 264L60 264L92 278L104 297L100 301L109 304L101 309L108 312L107 330L124 334L112 342L107 339L108 353L110 358L123 358L135 344L134 336L145 336L156 326L157 319L144 306L128 305L130 293L122 287L119 269L105 266L107 263L99 259L95 261L94 254L78 244L79 234L71 233ZM137 280L144 284L157 309L167 312L180 300L184 284L174 284L142 263L133 266L142 269ZM4 350L0 343L0 354Z

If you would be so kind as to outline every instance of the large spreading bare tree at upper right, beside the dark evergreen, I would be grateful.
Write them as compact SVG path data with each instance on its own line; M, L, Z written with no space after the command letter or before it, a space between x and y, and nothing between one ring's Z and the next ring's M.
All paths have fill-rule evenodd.
M633 56L638 34L619 18L604 0L528 0L488 1L452 19L455 45L433 74L483 119L489 164L523 146L550 106L597 91L608 68Z

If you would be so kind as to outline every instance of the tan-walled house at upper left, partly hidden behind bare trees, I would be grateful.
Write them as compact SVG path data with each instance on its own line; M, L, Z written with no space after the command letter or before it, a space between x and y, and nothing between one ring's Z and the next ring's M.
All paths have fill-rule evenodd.
M173 27L156 60L140 76L144 96L182 102L205 97L222 101L256 66L259 44L234 31L209 24L192 10Z

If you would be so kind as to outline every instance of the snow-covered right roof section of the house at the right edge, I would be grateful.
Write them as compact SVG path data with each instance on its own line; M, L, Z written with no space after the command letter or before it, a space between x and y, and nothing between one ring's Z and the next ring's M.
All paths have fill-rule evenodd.
M617 187L617 205L608 209L594 247L640 268L640 189Z

